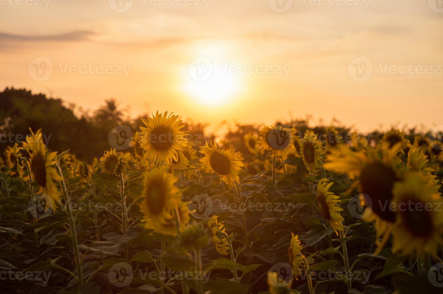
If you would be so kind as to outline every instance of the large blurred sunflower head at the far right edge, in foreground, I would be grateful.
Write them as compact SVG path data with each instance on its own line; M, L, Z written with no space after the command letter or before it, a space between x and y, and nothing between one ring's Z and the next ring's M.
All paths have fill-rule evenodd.
M402 256L435 255L443 244L443 215L435 209L442 205L439 194L423 176L412 173L394 185L393 195L397 218L392 229L392 252Z

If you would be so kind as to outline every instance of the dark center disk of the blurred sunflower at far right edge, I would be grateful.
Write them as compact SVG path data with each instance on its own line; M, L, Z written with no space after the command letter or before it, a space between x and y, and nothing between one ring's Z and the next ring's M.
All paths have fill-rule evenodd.
M420 201L411 200L411 202L415 205ZM424 206L424 203L422 203L422 206ZM430 211L405 210L401 211L400 215L406 224L406 228L414 236L427 237L432 234L434 227Z

